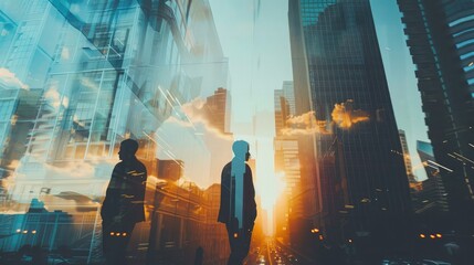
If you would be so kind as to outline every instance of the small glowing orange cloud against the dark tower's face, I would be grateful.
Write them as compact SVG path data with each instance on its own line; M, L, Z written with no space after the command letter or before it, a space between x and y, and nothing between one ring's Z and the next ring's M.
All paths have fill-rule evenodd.
M352 125L364 121L369 121L369 114L360 110L352 109L352 99L345 103L335 104L331 113L333 123L341 129L349 129Z

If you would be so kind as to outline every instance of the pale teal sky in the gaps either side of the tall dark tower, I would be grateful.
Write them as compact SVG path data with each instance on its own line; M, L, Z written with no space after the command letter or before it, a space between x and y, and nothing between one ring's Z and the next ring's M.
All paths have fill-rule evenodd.
M232 93L232 128L252 123L257 112L273 112L273 91L293 80L287 0L209 0L225 56L229 57ZM414 66L405 45L396 0L371 0L376 30L383 57L399 129L407 132L418 178L425 173L417 155L417 140L428 140ZM268 117L268 115L266 115ZM273 137L273 120L256 131Z

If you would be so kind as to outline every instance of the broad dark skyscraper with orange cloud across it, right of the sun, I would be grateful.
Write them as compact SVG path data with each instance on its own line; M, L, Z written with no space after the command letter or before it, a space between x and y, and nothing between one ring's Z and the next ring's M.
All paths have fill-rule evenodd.
M405 221L409 186L369 1L289 1L288 17L296 112L314 110L325 124L310 161L320 201L314 225L329 231L333 213L345 224L339 237L400 239L402 225L386 225ZM326 193L329 172L347 180L347 204L325 202L346 194Z

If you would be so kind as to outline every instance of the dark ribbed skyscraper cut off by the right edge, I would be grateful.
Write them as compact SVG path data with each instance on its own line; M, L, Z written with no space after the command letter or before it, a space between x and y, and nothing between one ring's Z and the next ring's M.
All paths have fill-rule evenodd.
M449 208L467 225L474 221L474 2L398 0L398 4L417 66L428 136L443 166Z

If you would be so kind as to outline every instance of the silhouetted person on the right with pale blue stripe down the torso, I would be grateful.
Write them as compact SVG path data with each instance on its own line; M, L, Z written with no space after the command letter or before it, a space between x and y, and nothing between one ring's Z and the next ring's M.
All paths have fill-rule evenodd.
M218 221L225 224L231 246L229 265L242 264L249 254L252 230L256 218L255 189L252 170L245 163L250 158L249 144L232 145L234 158L221 174L221 205Z

